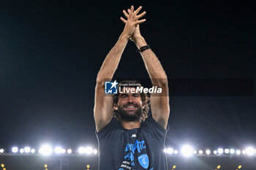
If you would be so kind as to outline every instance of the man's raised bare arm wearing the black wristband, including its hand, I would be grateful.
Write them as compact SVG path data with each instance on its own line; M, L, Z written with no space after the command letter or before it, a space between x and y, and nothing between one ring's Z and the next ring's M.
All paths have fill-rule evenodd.
M128 12L130 14L131 10L128 9ZM124 15L127 17L127 12L124 12ZM123 23L127 23L127 20L124 18L121 18L121 20ZM139 25L136 26L131 38L137 45L138 49L147 45L145 39L140 34ZM162 94L159 96L151 96L150 102L154 120L156 120L157 123L162 126L162 128L166 129L167 121L170 115L167 76L164 69L162 68L160 61L151 49L144 50L140 54L143 58L152 84L162 88Z

